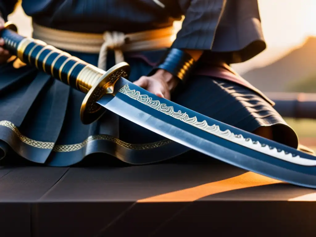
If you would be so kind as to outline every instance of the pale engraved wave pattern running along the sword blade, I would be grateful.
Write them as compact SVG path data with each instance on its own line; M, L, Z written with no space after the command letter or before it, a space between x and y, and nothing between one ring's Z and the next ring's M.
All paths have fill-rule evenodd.
M189 124L193 127L196 127L205 132L213 134L217 137L221 137L225 140L231 141L233 143L237 143L241 146L264 153L266 155L273 156L275 158L278 158L284 161L288 161L288 162L295 163L298 165L303 165L303 166L316 166L316 160L302 158L299 155L294 155L290 152L285 152L282 149L270 147L266 144L261 144L258 141L252 141L251 138L244 138L241 134L235 135L233 132L231 132L228 129L225 131L221 131L218 125L214 124L210 126L207 124L205 120L202 122L199 122L197 121L197 117L190 118L186 112L182 113L180 110L178 112L175 112L173 106L167 106L167 104L161 103L159 100L153 100L147 94L141 94L139 91L131 90L128 84L122 87L119 90L119 92L127 95L131 99L139 101L140 103L146 106L149 106L155 110L158 110L159 112L167 114L173 117L174 119L178 119L186 124ZM306 156L308 157L311 155L306 154Z

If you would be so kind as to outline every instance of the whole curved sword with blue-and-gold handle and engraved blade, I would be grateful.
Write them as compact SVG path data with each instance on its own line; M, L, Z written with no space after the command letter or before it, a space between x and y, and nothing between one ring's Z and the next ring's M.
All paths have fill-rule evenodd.
M130 72L127 63L104 71L15 31L14 25L7 24L0 33L9 52L86 94L80 111L82 123L92 123L110 110L231 165L291 184L316 188L315 156L159 98L125 79Z

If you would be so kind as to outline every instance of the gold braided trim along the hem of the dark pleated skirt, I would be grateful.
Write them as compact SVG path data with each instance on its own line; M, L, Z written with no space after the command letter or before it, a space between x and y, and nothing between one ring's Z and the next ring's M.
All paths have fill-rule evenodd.
M88 142L96 141L96 140L106 140L113 143L116 143L119 146L128 148L128 149L134 149L134 150L146 150L146 149L152 149L152 148L158 148L167 144L172 143L173 141L169 139L161 140L154 143L145 143L145 144L131 144L126 143L121 140L119 140L116 137L108 136L108 135L93 135L89 136L86 140L84 140L82 143L76 143L76 144L70 144L70 145L55 145L53 142L41 142L41 141L35 141L33 139L30 139L28 137L25 137L21 134L21 132L18 130L18 128L11 123L10 121L0 121L0 126L7 127L15 132L15 134L19 137L19 139L26 143L27 145L40 148L40 149L52 149L54 152L70 152L70 151L76 151L82 149Z

